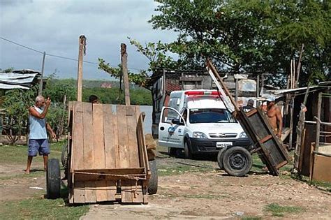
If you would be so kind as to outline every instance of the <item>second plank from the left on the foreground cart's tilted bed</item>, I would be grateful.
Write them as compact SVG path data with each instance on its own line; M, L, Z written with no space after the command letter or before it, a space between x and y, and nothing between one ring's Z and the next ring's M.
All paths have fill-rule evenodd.
M93 133L93 115L92 104L82 103L83 109L83 135L84 135L84 165L81 168L94 168L94 133Z

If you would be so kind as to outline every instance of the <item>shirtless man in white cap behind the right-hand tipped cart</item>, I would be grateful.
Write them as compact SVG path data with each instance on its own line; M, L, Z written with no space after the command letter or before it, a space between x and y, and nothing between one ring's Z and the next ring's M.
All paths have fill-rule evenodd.
M272 96L267 98L267 116L269 117L269 122L274 133L281 138L283 118L281 117L281 110L279 110L277 105L274 105L274 97Z

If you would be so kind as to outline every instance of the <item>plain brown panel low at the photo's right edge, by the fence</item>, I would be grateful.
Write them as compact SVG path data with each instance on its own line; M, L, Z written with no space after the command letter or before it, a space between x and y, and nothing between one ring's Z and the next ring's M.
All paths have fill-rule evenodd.
M331 158L315 154L313 179L317 181L331 182Z

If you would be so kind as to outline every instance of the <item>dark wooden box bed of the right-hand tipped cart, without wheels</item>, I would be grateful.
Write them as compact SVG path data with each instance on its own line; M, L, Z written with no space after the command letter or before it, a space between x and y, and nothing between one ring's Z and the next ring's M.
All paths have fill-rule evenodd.
M272 175L279 175L279 168L290 162L290 157L281 140L274 134L262 110L253 109L250 112L237 112L237 119L255 145L252 152L258 152Z

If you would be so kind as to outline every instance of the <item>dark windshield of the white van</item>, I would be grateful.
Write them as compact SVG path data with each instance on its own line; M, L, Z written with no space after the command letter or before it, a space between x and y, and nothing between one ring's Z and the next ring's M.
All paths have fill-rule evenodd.
M226 109L191 109L189 120L196 123L237 123Z

